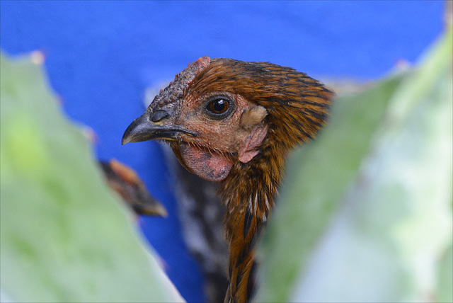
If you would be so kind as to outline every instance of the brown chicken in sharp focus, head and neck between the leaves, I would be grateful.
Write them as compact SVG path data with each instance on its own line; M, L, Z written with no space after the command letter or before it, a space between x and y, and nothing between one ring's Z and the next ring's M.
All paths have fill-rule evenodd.
M206 56L176 75L127 127L122 144L164 140L188 171L220 182L229 243L225 302L250 299L253 249L285 157L323 126L332 96L289 67Z

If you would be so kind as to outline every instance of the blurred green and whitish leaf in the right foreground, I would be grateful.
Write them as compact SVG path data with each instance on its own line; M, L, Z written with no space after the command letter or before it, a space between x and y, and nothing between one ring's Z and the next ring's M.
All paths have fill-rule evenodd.
M452 302L452 31L294 152L257 302Z

